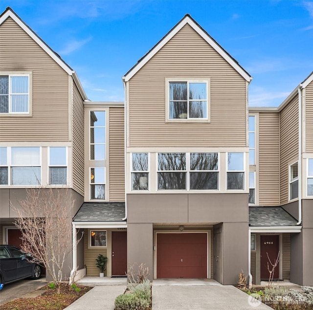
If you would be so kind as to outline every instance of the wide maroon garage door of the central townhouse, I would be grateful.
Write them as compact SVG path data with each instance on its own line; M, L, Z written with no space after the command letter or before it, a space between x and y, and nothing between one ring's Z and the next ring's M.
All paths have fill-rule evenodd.
M206 278L206 233L157 233L156 278Z

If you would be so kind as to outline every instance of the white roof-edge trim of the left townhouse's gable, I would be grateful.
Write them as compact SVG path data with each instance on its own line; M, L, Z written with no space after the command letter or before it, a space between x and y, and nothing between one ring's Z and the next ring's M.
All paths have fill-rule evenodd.
M8 18L16 22L68 75L72 75L84 100L88 100L87 95L78 79L76 72L58 55L48 44L46 44L22 19L10 8L7 7L0 15L0 25Z

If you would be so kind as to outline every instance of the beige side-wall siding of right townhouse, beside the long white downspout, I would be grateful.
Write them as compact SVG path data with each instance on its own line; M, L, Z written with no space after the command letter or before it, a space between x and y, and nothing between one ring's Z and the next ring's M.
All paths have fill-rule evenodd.
M298 94L280 112L280 203L288 203L289 164L298 155ZM296 161L296 159L295 159Z

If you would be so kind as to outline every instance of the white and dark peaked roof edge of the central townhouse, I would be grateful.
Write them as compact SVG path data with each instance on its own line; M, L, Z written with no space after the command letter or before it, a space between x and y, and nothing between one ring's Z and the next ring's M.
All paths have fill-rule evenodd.
M134 65L122 79L129 81L165 44L167 44L186 24L190 25L208 44L210 44L223 58L232 66L247 82L252 80L249 73L228 54L189 14L186 14L180 22L172 28L147 54L145 54L136 65Z

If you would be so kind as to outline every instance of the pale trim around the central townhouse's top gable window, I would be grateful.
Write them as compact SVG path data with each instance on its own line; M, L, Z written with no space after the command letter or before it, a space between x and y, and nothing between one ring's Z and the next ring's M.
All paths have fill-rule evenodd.
M207 107L206 107L206 117L205 118L170 118L170 82L187 82L187 83L206 83L206 94L207 94ZM209 77L168 77L165 78L165 123L209 123L210 120L210 78ZM188 101L188 100L187 100Z

